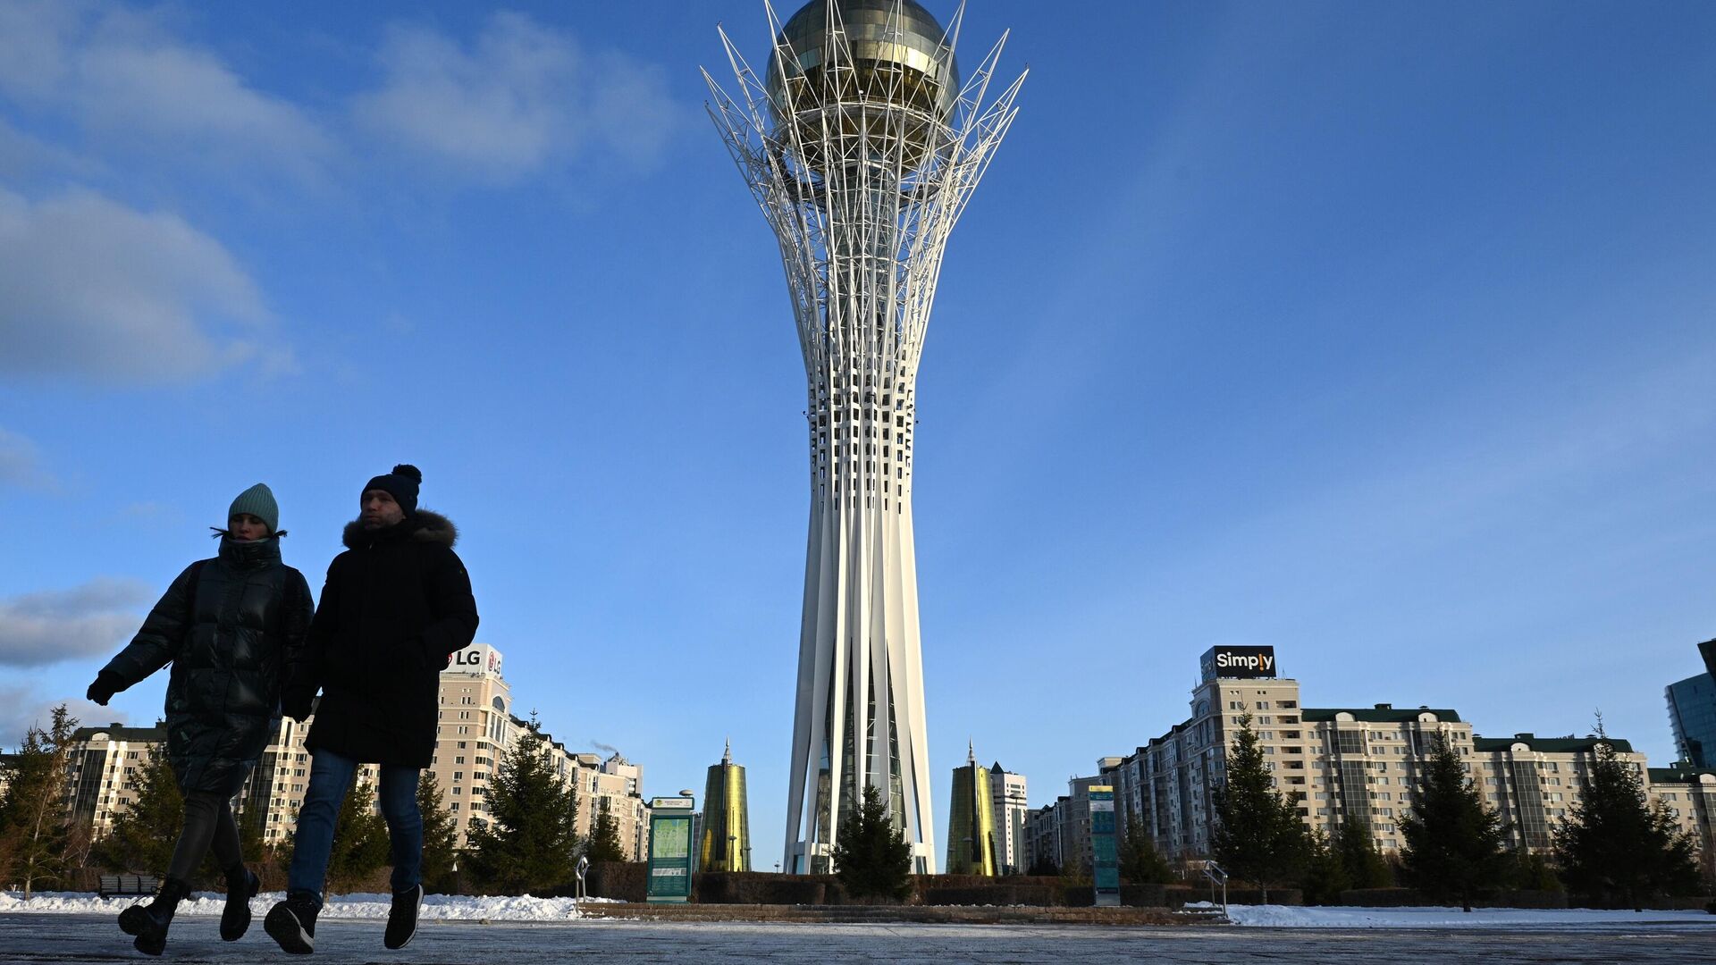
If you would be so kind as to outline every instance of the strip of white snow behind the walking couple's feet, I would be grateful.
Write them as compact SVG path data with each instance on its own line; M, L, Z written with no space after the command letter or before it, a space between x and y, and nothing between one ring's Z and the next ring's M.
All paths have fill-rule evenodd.
M251 900L251 912L266 915L268 908L285 898L280 891L264 891ZM0 891L0 913L36 912L36 913L120 913L127 905L144 898L101 898L88 891L38 891L24 901L19 891ZM468 895L429 895L424 898L422 917L436 920L491 920L491 922L570 922L578 919L578 905L583 901L611 901L611 898L532 898L530 895L503 896L468 896ZM388 895L335 895L323 907L324 919L386 919L391 896ZM199 891L187 901L178 903L180 915L220 917L227 907L227 896L216 891Z

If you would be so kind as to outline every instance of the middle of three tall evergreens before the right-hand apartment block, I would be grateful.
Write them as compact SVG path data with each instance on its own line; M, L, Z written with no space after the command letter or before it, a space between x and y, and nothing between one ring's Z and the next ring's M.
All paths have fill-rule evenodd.
M1477 797L1447 735L1438 733L1412 809L1400 819L1407 881L1433 898L1459 900L1471 912L1479 889L1507 877L1507 829Z

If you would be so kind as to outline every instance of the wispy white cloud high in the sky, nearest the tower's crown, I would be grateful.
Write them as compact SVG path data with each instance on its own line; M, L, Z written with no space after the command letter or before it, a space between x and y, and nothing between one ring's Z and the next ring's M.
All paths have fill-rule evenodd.
M678 124L661 69L590 55L522 14L496 14L468 46L395 26L378 57L386 79L353 100L359 124L489 182L597 153L650 163Z

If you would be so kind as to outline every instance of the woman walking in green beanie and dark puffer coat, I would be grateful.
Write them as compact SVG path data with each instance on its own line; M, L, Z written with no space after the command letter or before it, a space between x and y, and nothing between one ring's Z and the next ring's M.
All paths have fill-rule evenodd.
M211 848L227 872L220 936L251 927L257 877L239 853L232 798L280 726L280 689L304 673L304 635L314 606L304 575L280 561L280 507L257 482L232 501L220 555L190 563L149 611L142 630L89 685L106 704L168 663L166 757L185 797L185 826L154 901L132 905L118 927L146 955L166 946L178 901Z

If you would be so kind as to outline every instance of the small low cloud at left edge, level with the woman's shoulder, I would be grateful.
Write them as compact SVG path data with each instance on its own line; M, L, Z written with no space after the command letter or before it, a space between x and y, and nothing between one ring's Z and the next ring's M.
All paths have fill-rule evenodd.
M43 666L113 651L137 632L137 608L151 601L148 586L115 579L0 599L0 666Z

